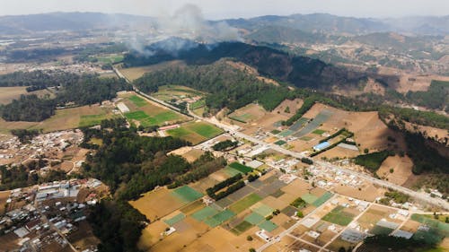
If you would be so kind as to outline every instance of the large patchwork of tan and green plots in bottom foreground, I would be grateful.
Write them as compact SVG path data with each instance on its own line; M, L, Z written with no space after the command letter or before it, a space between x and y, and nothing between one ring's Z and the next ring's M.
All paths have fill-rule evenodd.
M292 210L296 210L289 204L298 196L310 200L311 209L313 204L321 205L332 196L322 189L309 191L310 186L299 179L286 185L278 179L280 174L272 171L213 204L202 203L199 197L218 183L216 174L228 177L226 172L232 170L244 173L250 169L231 163L189 187L161 188L130 202L153 221L143 231L139 248L145 251L248 251L263 244L256 231L267 230L277 235L295 223L290 216ZM176 231L163 235L169 227ZM248 236L251 241L247 240Z

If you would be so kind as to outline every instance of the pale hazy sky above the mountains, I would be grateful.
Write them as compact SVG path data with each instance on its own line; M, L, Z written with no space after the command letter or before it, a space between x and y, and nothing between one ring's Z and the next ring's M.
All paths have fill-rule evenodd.
M197 4L209 19L292 13L449 15L449 0L0 0L0 15L81 11L160 16L186 3Z

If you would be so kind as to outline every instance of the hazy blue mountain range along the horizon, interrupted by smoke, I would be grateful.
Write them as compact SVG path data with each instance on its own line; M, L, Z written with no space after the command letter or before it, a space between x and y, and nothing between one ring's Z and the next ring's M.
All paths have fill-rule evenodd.
M156 19L130 14L42 13L0 16L0 35L33 31L117 29L136 25L153 25ZM283 27L311 33L364 35L373 32L398 32L412 35L449 35L449 15L374 19L341 17L326 13L260 16L229 19L230 26L253 32L266 27Z

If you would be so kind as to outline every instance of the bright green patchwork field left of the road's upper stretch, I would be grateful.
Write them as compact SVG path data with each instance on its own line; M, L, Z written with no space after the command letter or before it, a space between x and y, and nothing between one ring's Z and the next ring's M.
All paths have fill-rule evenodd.
M119 98L128 107L129 112L125 113L128 120L133 121L138 126L164 126L180 123L189 119L180 113L165 109L153 101L136 95L135 92L120 93Z

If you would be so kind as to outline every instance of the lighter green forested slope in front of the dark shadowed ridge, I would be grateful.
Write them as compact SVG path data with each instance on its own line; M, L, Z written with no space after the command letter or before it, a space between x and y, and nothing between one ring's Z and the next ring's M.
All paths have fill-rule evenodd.
M193 65L165 69L145 74L134 84L144 92L158 91L167 84L184 85L209 93L209 109L239 109L255 100L267 110L272 110L289 97L288 88L263 83L256 76L245 74L224 61L213 65Z

